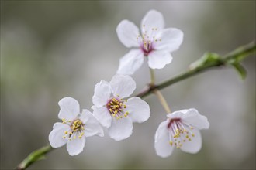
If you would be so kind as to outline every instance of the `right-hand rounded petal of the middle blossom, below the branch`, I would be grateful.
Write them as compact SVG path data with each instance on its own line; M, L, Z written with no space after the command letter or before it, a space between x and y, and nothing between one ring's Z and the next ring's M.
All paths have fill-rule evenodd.
M126 102L126 110L129 113L129 117L132 118L133 122L141 123L147 121L150 117L150 107L140 97L132 97Z

